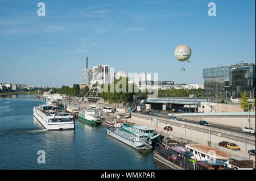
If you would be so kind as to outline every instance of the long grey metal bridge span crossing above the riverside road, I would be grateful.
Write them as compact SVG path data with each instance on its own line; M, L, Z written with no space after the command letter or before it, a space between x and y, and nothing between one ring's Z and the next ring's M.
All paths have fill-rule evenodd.
M148 98L146 103L168 103L201 106L202 98Z

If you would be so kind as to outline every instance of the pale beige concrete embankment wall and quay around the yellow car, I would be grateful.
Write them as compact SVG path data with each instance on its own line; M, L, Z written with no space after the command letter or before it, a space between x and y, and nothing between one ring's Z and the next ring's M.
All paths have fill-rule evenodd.
M154 118L158 119L157 127L153 126ZM208 145L208 143L211 142L211 146L213 148L220 149L234 155L239 155L241 157L249 158L247 151L255 148L255 135L248 136L222 129L209 128L203 125L184 123L183 121L165 119L164 117L140 115L138 113L132 113L131 118L127 119L127 121L155 128L158 132L164 132L163 128L166 127L166 125L170 125L173 128L173 131L171 132L172 136L181 137L185 140L192 140L193 142L203 145ZM221 141L234 142L240 146L241 150L234 151L222 148L217 145L218 142ZM251 156L250 159L253 159L255 162L254 156Z

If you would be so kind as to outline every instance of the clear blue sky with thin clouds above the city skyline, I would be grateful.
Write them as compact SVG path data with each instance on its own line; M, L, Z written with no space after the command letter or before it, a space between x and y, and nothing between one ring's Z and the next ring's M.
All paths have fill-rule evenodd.
M174 57L181 44L192 50L190 63ZM204 68L255 63L255 0L0 0L0 82L72 86L86 55L89 68L204 83Z

